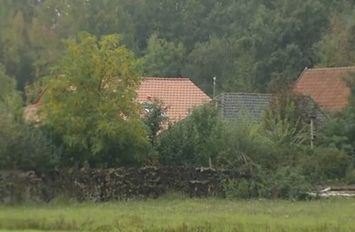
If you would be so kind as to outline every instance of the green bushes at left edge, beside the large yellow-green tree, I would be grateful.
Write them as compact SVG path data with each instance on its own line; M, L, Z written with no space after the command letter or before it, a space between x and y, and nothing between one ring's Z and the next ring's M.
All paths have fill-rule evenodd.
M16 82L0 66L0 167L43 172L58 165L60 149L39 128L22 122Z

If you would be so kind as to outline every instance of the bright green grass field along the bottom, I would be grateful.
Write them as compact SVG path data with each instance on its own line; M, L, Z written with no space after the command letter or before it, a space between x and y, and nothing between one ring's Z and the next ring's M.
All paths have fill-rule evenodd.
M355 231L355 199L165 198L1 206L0 231Z

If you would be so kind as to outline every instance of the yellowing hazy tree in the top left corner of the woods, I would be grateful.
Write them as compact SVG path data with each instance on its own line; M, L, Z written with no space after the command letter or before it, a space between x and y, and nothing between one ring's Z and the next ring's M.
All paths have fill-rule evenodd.
M17 87L48 74L48 68L61 55L61 43L51 18L41 13L42 1L1 1L0 62L6 73L16 77Z

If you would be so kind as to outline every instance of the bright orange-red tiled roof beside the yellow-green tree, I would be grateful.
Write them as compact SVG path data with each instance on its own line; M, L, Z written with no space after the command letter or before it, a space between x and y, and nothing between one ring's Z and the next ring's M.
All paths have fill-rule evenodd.
M137 101L159 99L170 121L185 118L194 106L212 101L187 77L145 77L137 90Z

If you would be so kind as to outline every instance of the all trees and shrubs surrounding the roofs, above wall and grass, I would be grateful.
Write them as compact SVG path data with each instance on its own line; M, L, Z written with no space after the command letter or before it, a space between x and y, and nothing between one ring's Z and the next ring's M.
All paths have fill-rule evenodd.
M292 94L258 123L223 121L207 105L161 133L160 105L142 119L134 101L142 75L187 75L209 94L214 76L217 92L270 92L305 67L354 65L354 10L349 0L1 1L0 167L211 159L253 177L226 184L237 197L298 198L310 184L354 184L353 82L350 106L314 149ZM24 122L22 106L44 91L41 122Z

